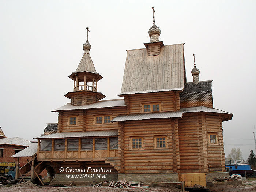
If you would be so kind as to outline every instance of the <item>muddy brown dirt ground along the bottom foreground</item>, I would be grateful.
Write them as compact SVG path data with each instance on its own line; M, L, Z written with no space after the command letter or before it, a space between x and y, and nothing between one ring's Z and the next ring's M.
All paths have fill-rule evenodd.
M6 187L0 186L0 191L6 192L174 192L167 188L110 188L110 187L89 187L89 186L72 186L72 187L37 187L32 183L21 183L18 186ZM210 189L210 192L256 192L256 180L243 181L242 185L218 185Z

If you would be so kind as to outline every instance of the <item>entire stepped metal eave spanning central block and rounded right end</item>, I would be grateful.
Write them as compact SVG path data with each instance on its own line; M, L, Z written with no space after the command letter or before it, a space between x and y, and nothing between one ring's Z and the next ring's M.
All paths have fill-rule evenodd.
M200 106L200 107L191 107L191 108L181 108L180 111L175 111L175 112L154 112L154 113L120 115L120 116L117 116L116 118L113 118L111 122L143 120L143 119L153 119L153 118L176 118L176 117L182 117L183 113L191 113L191 112L225 113L229 115L227 120L230 120L233 116L232 113L228 113L219 109Z

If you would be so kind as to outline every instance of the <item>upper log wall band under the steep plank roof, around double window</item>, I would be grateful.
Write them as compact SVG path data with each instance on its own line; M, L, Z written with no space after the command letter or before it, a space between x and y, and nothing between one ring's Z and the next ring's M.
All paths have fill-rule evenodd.
M142 106L147 103L159 103L162 112L180 110L180 95L175 91L132 94L126 95L124 99L129 114L142 113Z

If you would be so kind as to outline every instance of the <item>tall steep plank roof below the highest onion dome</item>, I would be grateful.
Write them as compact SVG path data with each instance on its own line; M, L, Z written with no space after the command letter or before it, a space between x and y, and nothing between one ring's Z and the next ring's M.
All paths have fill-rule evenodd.
M148 49L127 50L122 93L183 89L184 44L162 46L160 54L148 56Z

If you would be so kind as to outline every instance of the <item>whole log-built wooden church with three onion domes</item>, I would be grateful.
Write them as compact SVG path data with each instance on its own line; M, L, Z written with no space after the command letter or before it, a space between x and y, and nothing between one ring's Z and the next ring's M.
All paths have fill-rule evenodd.
M83 57L69 75L74 86L65 97L71 102L53 110L59 113L56 132L36 138L37 161L55 180L77 174L65 167L86 173L93 173L88 167L110 168L107 180L148 182L225 174L222 122L233 114L213 107L212 80L200 81L196 65L187 82L184 44L164 45L153 19L150 42L127 50L120 99L102 100L88 31Z

